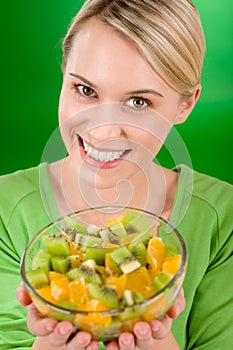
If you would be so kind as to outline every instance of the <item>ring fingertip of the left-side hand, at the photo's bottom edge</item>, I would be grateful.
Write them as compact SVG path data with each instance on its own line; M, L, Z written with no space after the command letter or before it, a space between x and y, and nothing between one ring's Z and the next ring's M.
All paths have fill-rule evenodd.
M91 341L91 334L87 332L78 332L66 345L67 350L98 350L98 343Z

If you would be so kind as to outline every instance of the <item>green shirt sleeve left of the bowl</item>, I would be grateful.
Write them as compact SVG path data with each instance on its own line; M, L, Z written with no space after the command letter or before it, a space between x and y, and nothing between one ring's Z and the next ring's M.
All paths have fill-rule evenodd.
M0 350L29 350L35 338L27 330L27 309L18 303L15 294L21 282L20 257L1 218L0 277Z

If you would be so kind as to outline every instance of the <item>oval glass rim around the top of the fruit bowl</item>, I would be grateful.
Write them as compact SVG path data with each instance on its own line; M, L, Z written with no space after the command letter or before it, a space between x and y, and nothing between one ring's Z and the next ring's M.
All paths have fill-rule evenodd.
M87 310L76 310L76 309L70 309L70 308L65 308L62 306L58 306L56 304L53 304L52 302L46 300L45 298L43 298L39 293L36 292L36 290L30 285L29 281L27 280L26 277L26 270L25 270L25 260L26 260L26 256L27 256L27 252L29 250L29 248L32 246L32 244L34 243L34 241L36 241L36 239L43 234L44 231L48 230L49 228L55 226L58 223L61 223L62 220L64 219L65 216L75 216L79 213L83 213L83 212L88 212L88 211L92 211L92 210L106 210L106 209L110 209L110 208L115 208L115 209L122 209L122 210L133 210L133 211L138 211L138 212L142 212L145 213L147 215L150 215L156 219L158 219L159 221L162 221L163 223L165 223L167 226L169 226L169 228L171 228L172 231L175 232L176 236L179 239L179 242L181 244L181 248L182 248L182 254L181 254L181 263L180 266L176 272L176 274L172 277L172 279L158 292L156 292L155 294L151 295L148 298L145 298L144 300L135 303L132 306L124 306L124 307L118 307L118 308L112 308L112 309L108 309L108 310L101 310L101 311L87 311ZM176 280L182 275L183 271L186 269L186 265L187 265L187 258L188 258L188 252L187 252L187 247L184 241L183 236L180 234L180 232L177 230L177 228L172 225L169 220L164 219L163 217L152 213L148 210L144 210L144 209L140 209L140 208L136 208L136 207L130 207L130 206L120 206L120 205L105 205L105 206L98 206L98 207L89 207L86 209L81 209L81 210L77 210L75 212L72 212L70 214L64 215L64 216L60 216L58 219L54 220L53 222L49 223L47 226L45 226L44 228L42 228L39 232L37 232L35 234L35 236L30 240L30 242L26 245L26 248L22 254L21 257L21 261L20 261L20 274L23 280L23 283L26 287L26 289L28 290L29 293L31 293L34 297L36 297L37 299L39 299L40 301L44 302L45 304L47 304L49 306L50 309L52 309L53 311L57 311L57 312L62 312L64 314L67 315L90 315L90 314L100 314L100 315L108 315L108 316L117 316L119 315L121 312L128 310L128 309L132 309L135 306L146 306L149 305L151 303L153 303L156 299L159 299L161 295L163 295L163 293L166 291L166 289L168 289L169 287L171 287L173 284L176 283Z

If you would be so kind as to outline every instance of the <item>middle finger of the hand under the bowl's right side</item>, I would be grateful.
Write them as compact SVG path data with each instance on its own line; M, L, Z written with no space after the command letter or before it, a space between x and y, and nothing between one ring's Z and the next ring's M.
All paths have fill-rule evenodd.
M148 323L137 322L134 326L134 334L136 335L136 343L140 349L148 349L154 343L152 330Z

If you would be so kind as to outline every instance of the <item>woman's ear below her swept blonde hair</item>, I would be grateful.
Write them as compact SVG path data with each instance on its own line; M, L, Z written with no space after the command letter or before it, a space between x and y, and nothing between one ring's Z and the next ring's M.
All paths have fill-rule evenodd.
M183 122L185 122L189 114L192 112L195 104L197 103L200 97L200 94L201 94L201 85L198 84L196 86L196 90L194 94L188 98L185 98L185 100L181 102L180 110L179 110L179 113L177 114L174 124L182 124Z

